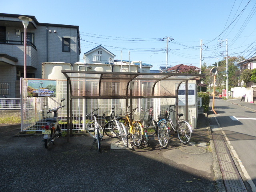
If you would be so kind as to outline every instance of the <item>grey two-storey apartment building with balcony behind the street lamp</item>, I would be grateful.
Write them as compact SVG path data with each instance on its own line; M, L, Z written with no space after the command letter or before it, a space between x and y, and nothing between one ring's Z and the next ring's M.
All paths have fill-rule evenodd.
M20 16L31 18L26 34L26 78L42 78L43 62L79 61L79 26L40 23L35 16L0 13L0 95L20 98L24 77L24 26Z

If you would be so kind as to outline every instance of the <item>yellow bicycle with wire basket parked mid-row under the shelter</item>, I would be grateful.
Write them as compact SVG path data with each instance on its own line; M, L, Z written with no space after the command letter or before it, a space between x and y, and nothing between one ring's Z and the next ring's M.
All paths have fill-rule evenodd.
M144 134L144 130L143 130L143 126L140 123L140 116L141 114L134 114L133 118L132 118L132 123L130 122L130 112L128 112L128 108L130 108L130 106L127 107L126 110L126 117L125 117L125 123L124 126L128 127L129 130L129 134L131 134L132 136L132 141L134 143L135 146L140 146L141 142L142 142L142 137ZM136 111L138 107L136 107L135 109L132 110L132 112L134 113ZM142 112L143 113L143 112ZM142 116L145 116L144 114L142 114Z

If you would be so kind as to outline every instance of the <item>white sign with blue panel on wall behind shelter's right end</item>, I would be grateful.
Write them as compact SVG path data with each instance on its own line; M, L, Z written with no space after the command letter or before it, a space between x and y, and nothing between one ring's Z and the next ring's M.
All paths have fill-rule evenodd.
M188 105L196 105L196 84L188 84ZM178 88L178 105L186 105L186 84L180 84Z

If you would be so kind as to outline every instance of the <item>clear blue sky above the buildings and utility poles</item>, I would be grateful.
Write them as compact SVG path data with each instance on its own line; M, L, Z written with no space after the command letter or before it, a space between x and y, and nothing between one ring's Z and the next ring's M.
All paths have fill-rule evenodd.
M247 6L246 6L247 5ZM115 60L141 60L152 69L256 56L256 2L254 0L9 0L1 13L35 16L38 22L78 25L83 54L101 44ZM222 42L222 40L225 40Z

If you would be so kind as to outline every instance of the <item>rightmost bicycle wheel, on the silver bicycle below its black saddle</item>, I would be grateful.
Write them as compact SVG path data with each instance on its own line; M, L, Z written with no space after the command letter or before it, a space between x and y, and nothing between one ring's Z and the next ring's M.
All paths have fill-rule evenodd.
M182 143L188 143L191 139L192 128L186 121L182 121L178 124L178 138Z

